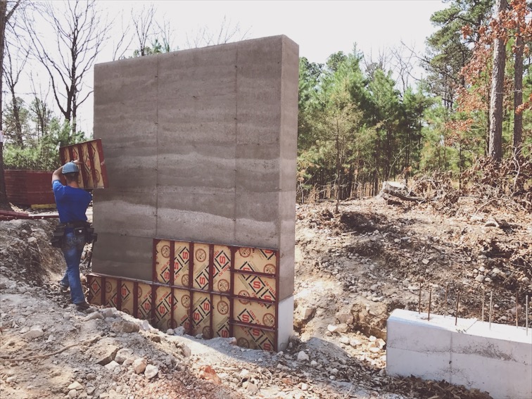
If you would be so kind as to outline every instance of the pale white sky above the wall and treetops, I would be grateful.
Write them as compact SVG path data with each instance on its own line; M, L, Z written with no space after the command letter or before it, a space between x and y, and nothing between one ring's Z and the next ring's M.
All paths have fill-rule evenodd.
M445 8L440 0L355 0L355 1L118 1L99 0L103 15L114 20L112 36L99 53L96 63L112 61L113 40L122 32L120 13L127 19L132 9L140 11L151 3L156 8L156 20L167 21L172 30L173 49L185 49L186 37L207 27L211 32L226 25L239 26L241 37L285 34L299 45L299 55L310 62L325 63L338 51L350 53L356 44L367 58L379 58L387 49L407 44L419 53L424 51L426 37L436 30L430 16ZM132 54L132 46L126 52ZM37 68L37 67L36 67ZM417 74L422 74L418 68ZM39 74L44 76L44 74ZM92 72L87 75L92 86ZM51 98L49 99L51 101ZM92 96L80 107L78 126L92 133ZM94 137L98 137L97 132Z

